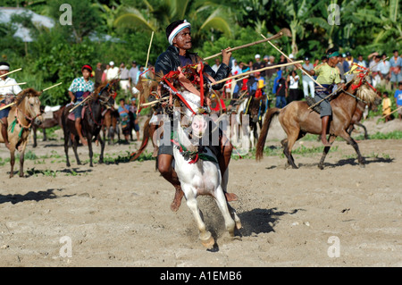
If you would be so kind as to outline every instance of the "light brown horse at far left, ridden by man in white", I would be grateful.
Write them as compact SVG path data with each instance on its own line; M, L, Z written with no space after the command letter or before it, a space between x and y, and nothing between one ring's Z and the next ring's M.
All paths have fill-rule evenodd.
M33 88L22 90L15 99L15 105L10 109L8 114L8 141L10 143L10 178L14 175L15 149L20 152L20 177L24 176L24 155L25 148L28 144L28 136L30 127L42 121L42 113L40 112L39 96L41 92ZM4 142L4 138L0 133L0 142Z

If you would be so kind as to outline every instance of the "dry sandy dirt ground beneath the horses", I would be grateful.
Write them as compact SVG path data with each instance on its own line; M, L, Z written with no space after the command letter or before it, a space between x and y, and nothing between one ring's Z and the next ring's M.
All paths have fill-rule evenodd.
M364 124L370 133L402 130L396 120ZM402 266L402 140L360 141L365 168L344 141L335 142L322 171L321 153L295 155L297 170L285 169L281 155L233 159L229 191L239 200L230 204L243 228L227 237L214 200L198 197L217 241L211 251L184 199L171 211L174 190L155 161L91 168L88 148L80 147L85 163L77 165L70 149L67 168L56 133L37 148L29 142L38 158L25 161L24 178L9 179L9 163L0 167L0 266ZM273 122L265 146L280 147L281 136ZM106 145L105 154L135 149ZM9 157L4 146L0 157Z

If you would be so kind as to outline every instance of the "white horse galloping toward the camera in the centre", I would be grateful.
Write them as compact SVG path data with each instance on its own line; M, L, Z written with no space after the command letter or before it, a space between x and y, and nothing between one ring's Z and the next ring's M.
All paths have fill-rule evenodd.
M188 91L183 91L180 94L188 102L188 105L197 112L200 106L200 97ZM204 134L207 135L205 133L207 122L202 115L194 115L187 107L181 108L180 114L177 109L175 112L177 118L180 118L180 114L182 114L188 120L187 126L192 129L193 138L202 138ZM203 215L197 204L197 197L199 195L214 197L222 212L226 230L229 231L230 237L234 237L235 227L240 229L241 222L236 211L227 202L223 192L227 188L229 170L226 170L222 179L218 159L209 147L202 147L203 150L199 151L198 146L191 142L180 124L175 127L174 132L176 145L179 145L179 147L173 147L174 170L180 180L188 208L196 219L199 239L205 247L211 248L215 244L214 237L212 237L211 232L206 231ZM188 157L189 153L192 154L190 157Z

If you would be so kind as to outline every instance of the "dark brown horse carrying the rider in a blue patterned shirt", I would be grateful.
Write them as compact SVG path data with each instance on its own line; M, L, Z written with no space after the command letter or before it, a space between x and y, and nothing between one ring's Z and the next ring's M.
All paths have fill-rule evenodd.
M93 167L92 157L92 138L96 138L101 144L101 153L99 156L99 163L104 162L104 150L105 150L105 141L102 140L100 136L100 130L103 125L103 113L107 106L113 105L113 93L115 92L115 88L117 87L118 81L113 80L111 82L105 82L90 95L91 97L85 103L83 109L83 117L81 120L82 124L82 134L88 140L88 150L89 150L89 166ZM63 133L64 133L64 153L66 156L66 164L67 167L70 167L69 160L69 141L72 140L72 149L74 151L75 158L77 160L77 164L80 163L80 157L77 153L78 141L80 139L77 129L75 128L74 119L71 118L70 110L73 106L69 105L64 108L63 111Z

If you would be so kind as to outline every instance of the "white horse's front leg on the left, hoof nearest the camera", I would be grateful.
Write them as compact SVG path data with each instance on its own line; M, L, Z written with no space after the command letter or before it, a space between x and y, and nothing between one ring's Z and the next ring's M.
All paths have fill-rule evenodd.
M214 237L211 235L211 232L206 231L206 226L202 217L201 210L198 208L197 197L194 194L196 193L196 191L195 190L193 191L192 186L188 184L182 184L181 189L184 191L186 195L188 208L190 209L191 213L194 215L194 218L196 219L199 231L199 239L201 239L201 243L203 244L204 247L207 248L214 247L215 244Z

